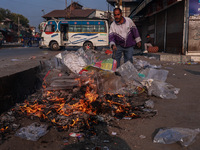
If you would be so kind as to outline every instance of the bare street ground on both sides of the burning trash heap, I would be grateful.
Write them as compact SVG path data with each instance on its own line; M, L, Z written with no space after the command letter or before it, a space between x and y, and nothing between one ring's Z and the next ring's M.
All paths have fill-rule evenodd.
M20 67L16 68L16 63L21 69L32 67L33 64L38 64L38 61L49 59L59 53L59 51L50 51L48 49L41 50L39 48L13 48L1 49L1 75L18 72ZM161 99L155 96L150 96L157 110L157 115L150 118L138 118L132 120L116 121L118 126L105 126L103 130L107 133L116 132L117 135L109 136L108 143L98 143L100 146L107 146L112 150L198 150L200 147L200 135L195 139L195 142L183 148L179 144L155 144L153 143L153 133L159 128L181 127L189 129L200 128L200 101L199 101L199 83L200 83L200 65L187 65L172 62L161 62L155 59L149 59L145 56L134 56L135 58L150 62L152 65L162 65L162 69L169 71L167 83L180 88L177 99ZM12 60L14 59L14 60ZM5 70L6 68L6 70ZM12 69L9 69L12 68ZM15 68L13 70L13 68ZM133 99L134 101L134 99ZM24 118L23 126L33 122L31 119ZM47 135L32 142L16 137L14 134L5 140L1 145L1 150L27 150L27 149L84 149L86 145L81 145L81 142L75 141L72 145L64 145L63 138L67 136L66 132L58 132L55 128L51 128ZM91 143L90 143L91 144ZM95 145L94 145L95 146ZM97 146L97 145L96 145Z

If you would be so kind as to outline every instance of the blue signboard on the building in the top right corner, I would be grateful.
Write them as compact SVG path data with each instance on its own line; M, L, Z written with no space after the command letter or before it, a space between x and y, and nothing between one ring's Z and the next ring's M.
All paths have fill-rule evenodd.
M200 15L200 0L190 0L189 14L190 16Z

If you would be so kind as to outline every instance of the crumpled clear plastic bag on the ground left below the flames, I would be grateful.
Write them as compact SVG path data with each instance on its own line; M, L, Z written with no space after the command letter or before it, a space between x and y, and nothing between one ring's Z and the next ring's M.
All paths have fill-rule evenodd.
M48 125L35 122L27 127L19 129L15 135L27 140L37 141L48 132L47 127Z

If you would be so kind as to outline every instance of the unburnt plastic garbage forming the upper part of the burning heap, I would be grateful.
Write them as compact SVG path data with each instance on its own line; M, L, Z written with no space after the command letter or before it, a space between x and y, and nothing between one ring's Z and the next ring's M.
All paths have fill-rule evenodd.
M87 77L93 72L100 95L130 96L147 91L149 96L176 99L180 90L166 83L168 70L143 60L134 59L133 64L128 61L116 68L116 60L112 58L101 60L100 56L95 56L94 53L85 52L80 48L76 52L62 52L48 63L50 68L64 70L68 74L75 74L80 78ZM55 88L55 86L51 88ZM61 88L61 86L59 87L57 84L56 88Z

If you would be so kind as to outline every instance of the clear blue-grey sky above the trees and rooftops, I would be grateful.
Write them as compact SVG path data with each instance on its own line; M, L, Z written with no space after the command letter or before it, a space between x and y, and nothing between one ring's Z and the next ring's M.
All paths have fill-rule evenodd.
M72 0L67 0L67 6ZM106 0L73 0L85 8L108 10ZM52 10L65 9L65 0L0 0L0 8L9 9L29 20L29 25L38 28L44 20L41 16ZM44 11L42 11L44 10Z

